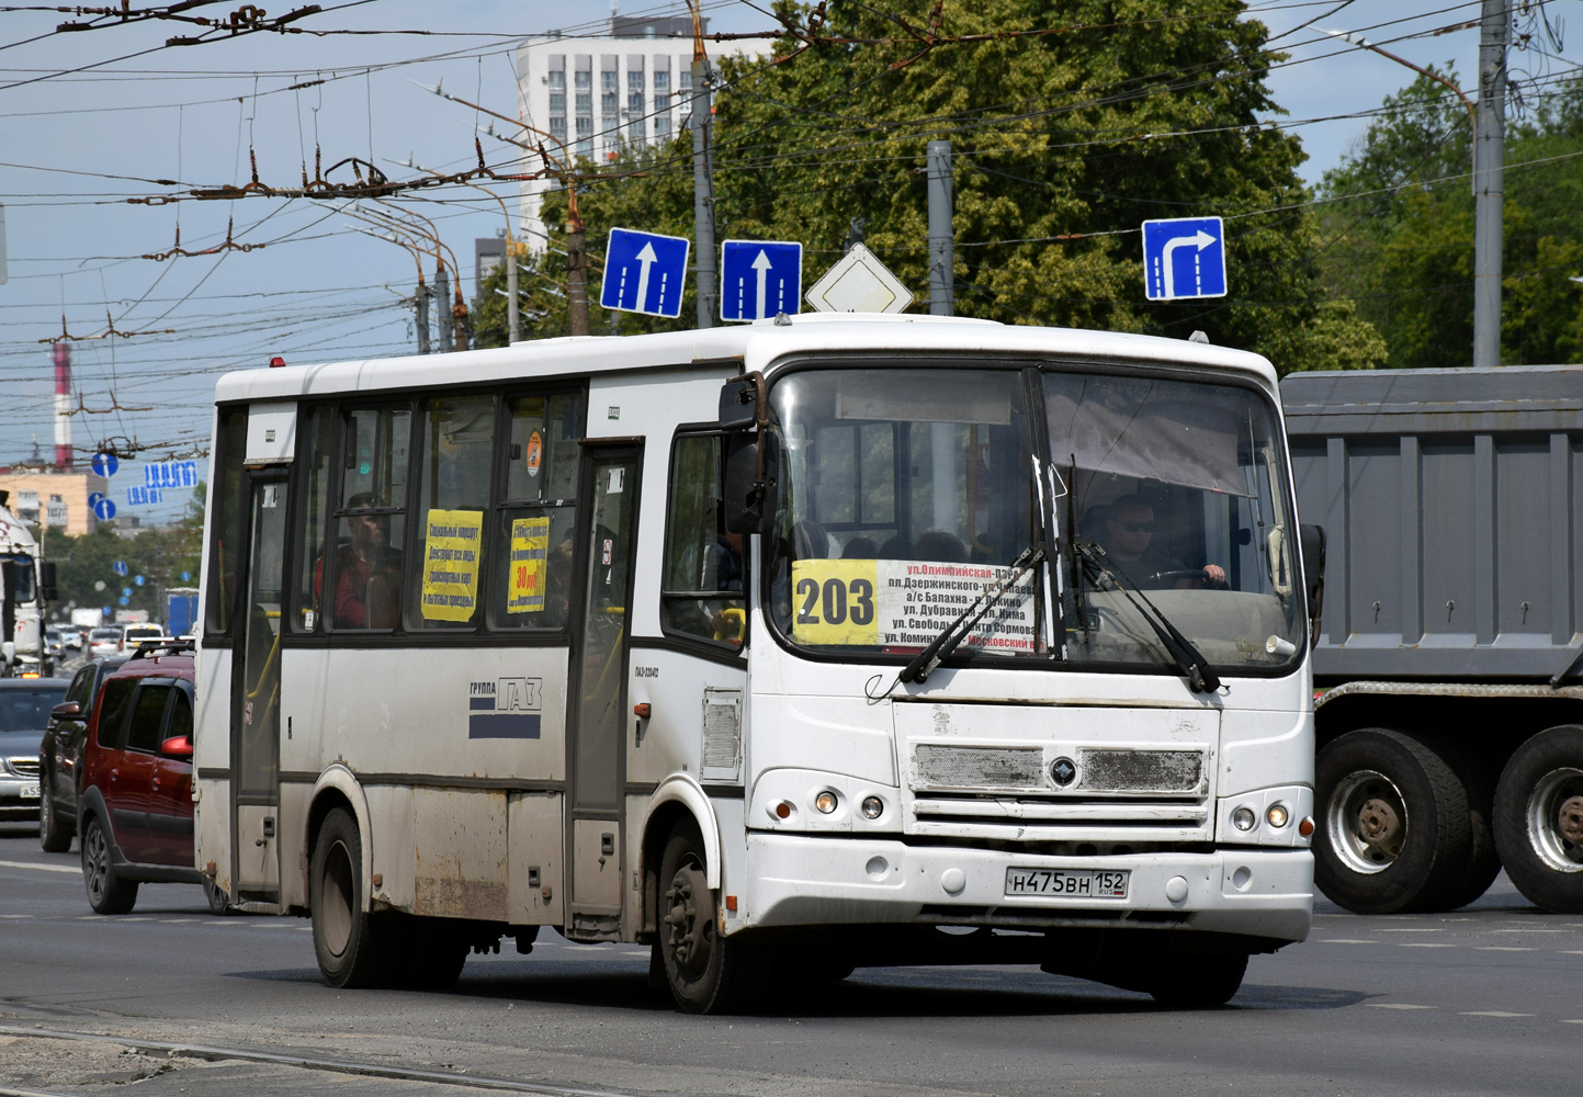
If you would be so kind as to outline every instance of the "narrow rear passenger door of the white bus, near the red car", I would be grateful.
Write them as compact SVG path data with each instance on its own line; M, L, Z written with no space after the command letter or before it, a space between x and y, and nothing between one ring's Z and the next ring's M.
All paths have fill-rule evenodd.
M280 894L280 605L285 579L285 472L253 473L245 602L231 689L231 901Z

